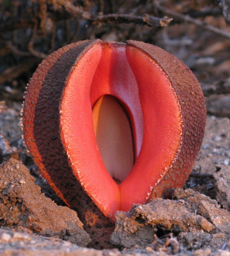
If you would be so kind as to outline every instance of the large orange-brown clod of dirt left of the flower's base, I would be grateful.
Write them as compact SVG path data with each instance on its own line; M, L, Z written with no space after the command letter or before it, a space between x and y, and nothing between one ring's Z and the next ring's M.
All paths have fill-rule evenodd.
M0 225L86 246L91 239L77 213L46 198L34 181L15 159L0 165Z

